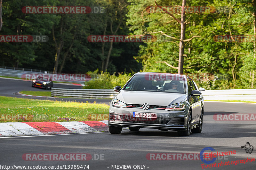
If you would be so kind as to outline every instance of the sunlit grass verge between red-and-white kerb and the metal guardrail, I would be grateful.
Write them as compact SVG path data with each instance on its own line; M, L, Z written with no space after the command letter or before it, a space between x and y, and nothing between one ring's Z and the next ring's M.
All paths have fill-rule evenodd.
M0 122L99 121L108 119L108 110L107 104L0 96Z

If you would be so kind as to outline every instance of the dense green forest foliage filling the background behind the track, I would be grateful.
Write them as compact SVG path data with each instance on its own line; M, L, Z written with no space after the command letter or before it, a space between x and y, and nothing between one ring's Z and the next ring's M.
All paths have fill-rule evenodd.
M157 0L161 6L181 5L180 0ZM225 74L227 79L195 80L206 89L255 88L254 42L215 42L215 35L255 35L255 0L187 0L188 6L227 7L228 11L186 14L184 74ZM85 88L111 89L124 85L134 72L177 73L179 41L155 35L163 41L147 43L113 43L106 65L110 43L92 43L88 35L141 35L162 31L180 38L180 25L166 13L148 13L154 0L3 0L1 35L47 35L47 43L0 43L0 66L53 70L56 44L63 42L58 72L97 74L98 79L85 82ZM104 6L103 14L24 14L23 6ZM180 14L173 14L180 18ZM63 23L63 25L61 25ZM118 24L120 27L118 27ZM61 33L60 30L63 30ZM72 48L69 47L72 45ZM102 50L104 49L104 50ZM66 57L65 57L66 56ZM63 68L61 68L63 65ZM61 69L60 69L61 68ZM95 71L94 71L95 70ZM103 71L103 72L102 72ZM107 71L107 72L105 72ZM118 73L119 72L119 73ZM123 72L122 74L120 74Z

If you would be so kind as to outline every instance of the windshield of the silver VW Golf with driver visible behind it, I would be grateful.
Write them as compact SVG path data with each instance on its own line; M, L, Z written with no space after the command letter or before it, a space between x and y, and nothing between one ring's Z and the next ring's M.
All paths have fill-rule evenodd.
M168 75L136 75L124 87L127 91L185 93L184 78Z

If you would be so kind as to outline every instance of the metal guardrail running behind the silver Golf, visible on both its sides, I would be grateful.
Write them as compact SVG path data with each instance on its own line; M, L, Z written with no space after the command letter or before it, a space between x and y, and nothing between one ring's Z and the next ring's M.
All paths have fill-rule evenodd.
M80 98L114 98L118 92L102 89L52 88L52 96ZM204 100L256 100L256 89L205 90Z

